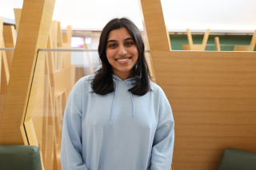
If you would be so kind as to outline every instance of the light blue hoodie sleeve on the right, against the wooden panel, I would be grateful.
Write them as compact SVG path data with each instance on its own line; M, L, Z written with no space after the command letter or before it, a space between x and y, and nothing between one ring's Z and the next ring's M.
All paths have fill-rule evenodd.
M174 152L174 117L165 93L160 90L158 127L154 135L150 170L170 170Z

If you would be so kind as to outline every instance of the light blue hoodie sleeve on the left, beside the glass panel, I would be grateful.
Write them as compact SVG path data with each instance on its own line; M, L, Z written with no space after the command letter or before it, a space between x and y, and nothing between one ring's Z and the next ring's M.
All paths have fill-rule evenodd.
M70 92L62 125L62 170L88 170L82 160L82 80Z

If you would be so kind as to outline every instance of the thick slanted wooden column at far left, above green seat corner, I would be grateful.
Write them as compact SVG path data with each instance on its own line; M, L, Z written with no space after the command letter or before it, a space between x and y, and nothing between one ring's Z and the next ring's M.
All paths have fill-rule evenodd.
M30 94L34 66L40 56L38 48L46 48L55 0L24 0L18 38L10 72L6 101L0 122L0 144L27 144L23 126ZM29 21L29 22L28 22ZM40 65L37 62L37 65ZM36 78L36 77L35 77ZM34 88L36 87L36 80Z

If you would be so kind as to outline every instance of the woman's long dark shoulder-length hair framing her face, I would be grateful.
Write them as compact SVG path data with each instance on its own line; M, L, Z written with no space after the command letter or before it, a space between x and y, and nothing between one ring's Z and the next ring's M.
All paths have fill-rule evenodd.
M138 96L143 96L150 89L150 70L146 63L146 57L144 54L145 46L142 39L142 34L138 30L137 26L134 25L127 18L114 18L106 24L102 30L101 37L99 39L98 54L100 60L102 61L102 69L99 69L95 74L93 81L91 82L91 87L94 90L92 93L105 95L107 93L114 92L114 81L112 78L112 66L106 57L106 42L108 35L111 30L117 30L125 27L130 33L131 37L138 49L138 61L134 65L134 81L136 84L133 88L129 89L133 94Z

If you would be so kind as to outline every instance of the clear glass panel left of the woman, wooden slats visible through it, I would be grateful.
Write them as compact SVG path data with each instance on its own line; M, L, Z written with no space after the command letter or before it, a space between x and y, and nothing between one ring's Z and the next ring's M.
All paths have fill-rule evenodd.
M45 169L61 169L63 113L78 79L98 67L98 52L39 51L24 124L30 145L40 148Z

